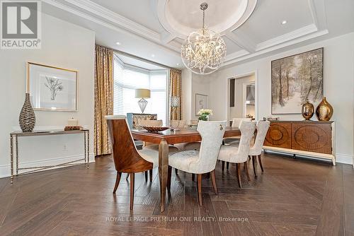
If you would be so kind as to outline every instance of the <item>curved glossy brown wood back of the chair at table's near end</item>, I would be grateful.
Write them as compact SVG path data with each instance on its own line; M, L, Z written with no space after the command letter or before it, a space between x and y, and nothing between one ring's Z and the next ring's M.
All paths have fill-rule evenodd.
M135 147L124 115L105 116L112 146L115 170L118 172L143 172L152 169L152 163L144 160Z

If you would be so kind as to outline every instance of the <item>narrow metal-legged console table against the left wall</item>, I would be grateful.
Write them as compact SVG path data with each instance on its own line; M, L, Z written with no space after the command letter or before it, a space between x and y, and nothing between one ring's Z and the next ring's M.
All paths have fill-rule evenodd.
M43 136L43 135L61 135L61 134L84 134L84 158L80 158L79 160L72 160L67 163L61 163L58 165L46 165L46 166L37 166L37 167L23 167L20 168L18 167L19 164L19 158L18 158L18 137L21 136ZM15 159L16 159L16 176L18 175L24 175L28 174L31 172L35 172L38 170L45 170L45 169L50 169L52 167L61 167L61 166L67 166L67 165L80 165L80 164L74 164L80 160L85 161L85 165L87 165L87 168L89 169L89 153L90 153L90 139L89 139L89 129L81 129L81 130L69 130L69 131L64 131L64 130L48 130L48 131L33 131L33 132L22 132L22 131L13 131L10 133L10 158L11 158L11 184L13 183L13 149L15 149ZM33 170L34 169L34 170ZM18 170L28 170L26 172L22 172L21 174L18 174Z

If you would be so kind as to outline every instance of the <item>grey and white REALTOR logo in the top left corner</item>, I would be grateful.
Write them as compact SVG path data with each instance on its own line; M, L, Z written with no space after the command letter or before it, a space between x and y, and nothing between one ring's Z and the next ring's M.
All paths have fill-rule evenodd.
M0 1L1 49L40 49L40 1Z

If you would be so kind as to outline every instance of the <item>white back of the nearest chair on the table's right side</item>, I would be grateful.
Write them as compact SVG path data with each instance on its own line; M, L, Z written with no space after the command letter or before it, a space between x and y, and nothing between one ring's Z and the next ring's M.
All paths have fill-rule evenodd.
M200 136L202 136L199 158L195 163L191 163L190 165L195 165L193 169L198 170L200 174L215 170L226 126L226 121L199 121L197 130Z

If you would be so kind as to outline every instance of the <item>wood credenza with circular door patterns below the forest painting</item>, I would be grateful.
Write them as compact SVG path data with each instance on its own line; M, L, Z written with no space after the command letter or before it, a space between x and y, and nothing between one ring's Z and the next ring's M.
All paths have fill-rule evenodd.
M336 165L334 122L270 122L265 150L330 159Z

